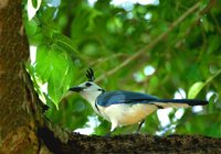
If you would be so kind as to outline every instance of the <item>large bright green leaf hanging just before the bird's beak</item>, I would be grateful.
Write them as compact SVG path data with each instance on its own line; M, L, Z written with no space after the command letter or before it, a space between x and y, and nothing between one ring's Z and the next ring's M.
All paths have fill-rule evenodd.
M38 47L35 70L43 82L49 82L49 96L59 108L60 99L73 78L72 61L56 44L51 46L42 44Z

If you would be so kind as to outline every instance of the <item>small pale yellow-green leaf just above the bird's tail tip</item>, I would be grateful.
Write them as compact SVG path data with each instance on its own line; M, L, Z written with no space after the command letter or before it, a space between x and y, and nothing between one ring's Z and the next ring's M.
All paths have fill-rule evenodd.
M188 98L190 99L193 99L197 97L197 95L201 91L201 89L204 87L204 82L202 81L198 81L198 82L194 82L189 91L188 91Z

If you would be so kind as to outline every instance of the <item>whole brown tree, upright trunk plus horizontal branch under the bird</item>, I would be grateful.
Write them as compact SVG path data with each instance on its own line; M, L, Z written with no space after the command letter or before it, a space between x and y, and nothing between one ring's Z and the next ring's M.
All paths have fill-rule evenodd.
M66 132L43 116L25 72L29 46L21 0L0 1L0 153L221 153L204 136L86 136Z

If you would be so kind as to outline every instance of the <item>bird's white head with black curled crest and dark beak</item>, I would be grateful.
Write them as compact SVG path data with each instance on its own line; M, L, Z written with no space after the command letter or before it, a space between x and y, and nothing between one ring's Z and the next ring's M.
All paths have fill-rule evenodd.
M102 89L94 82L94 73L92 69L87 70L86 74L88 81L80 84L78 86L70 88L70 91L80 92L80 95L86 99L88 102L95 102L96 98L103 94L105 90Z

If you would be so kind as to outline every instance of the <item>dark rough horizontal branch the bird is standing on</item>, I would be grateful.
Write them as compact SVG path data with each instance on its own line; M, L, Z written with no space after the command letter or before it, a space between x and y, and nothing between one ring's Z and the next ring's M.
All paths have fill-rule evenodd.
M200 135L149 136L141 134L112 138L69 133L62 143L53 132L41 129L39 135L53 153L221 153L221 139Z

